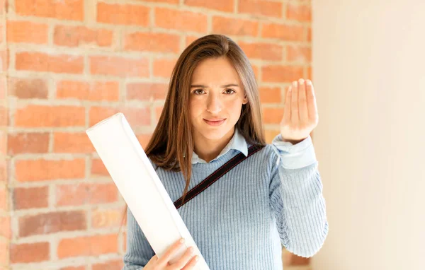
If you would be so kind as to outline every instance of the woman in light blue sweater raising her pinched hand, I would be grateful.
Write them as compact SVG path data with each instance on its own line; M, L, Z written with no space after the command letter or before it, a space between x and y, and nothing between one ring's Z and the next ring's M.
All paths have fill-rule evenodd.
M310 133L318 115L310 81L285 96L280 134L266 144L259 92L249 60L224 35L189 45L171 75L164 110L145 148L171 200L249 146L264 146L178 211L210 269L283 269L282 245L302 257L328 232L322 182ZM128 213L124 269L193 269L176 242L158 258Z

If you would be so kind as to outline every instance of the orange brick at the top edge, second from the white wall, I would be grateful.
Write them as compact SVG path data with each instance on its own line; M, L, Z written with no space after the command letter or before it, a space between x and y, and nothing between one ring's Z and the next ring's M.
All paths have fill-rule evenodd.
M282 17L282 4L265 0L239 0L238 13L268 17Z

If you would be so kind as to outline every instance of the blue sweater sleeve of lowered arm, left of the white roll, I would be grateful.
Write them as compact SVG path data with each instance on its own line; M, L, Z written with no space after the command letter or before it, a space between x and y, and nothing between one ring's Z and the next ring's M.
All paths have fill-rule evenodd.
M154 257L155 252L149 245L145 234L137 224L130 209L127 209L127 250L122 270L140 270Z

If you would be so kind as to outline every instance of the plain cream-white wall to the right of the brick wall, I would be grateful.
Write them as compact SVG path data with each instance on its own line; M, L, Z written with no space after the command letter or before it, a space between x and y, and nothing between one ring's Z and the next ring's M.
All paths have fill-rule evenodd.
M312 0L314 270L425 269L425 1Z

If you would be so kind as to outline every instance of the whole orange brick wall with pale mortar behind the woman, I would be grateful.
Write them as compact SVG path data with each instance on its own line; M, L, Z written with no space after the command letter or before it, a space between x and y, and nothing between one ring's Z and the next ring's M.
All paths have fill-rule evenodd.
M268 142L285 87L311 77L310 0L0 5L0 269L120 269L123 199L84 131L122 111L145 146L192 40L222 33L244 49ZM310 269L283 257L285 269Z

